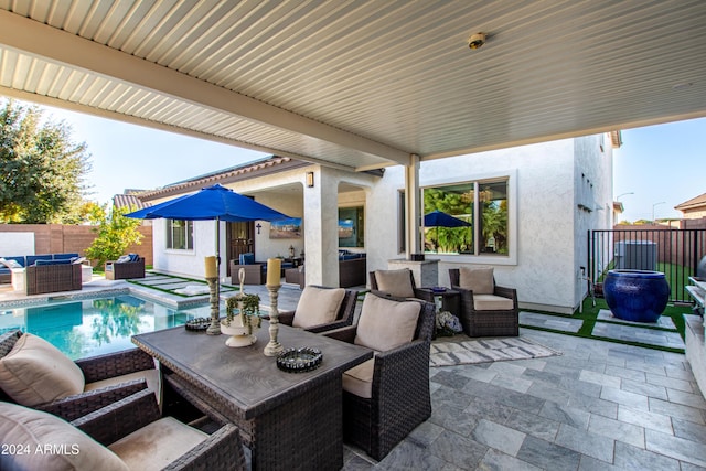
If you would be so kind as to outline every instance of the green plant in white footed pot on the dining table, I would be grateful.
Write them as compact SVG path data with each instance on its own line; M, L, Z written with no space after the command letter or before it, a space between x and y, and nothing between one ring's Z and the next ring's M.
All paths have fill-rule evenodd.
M221 321L221 332L231 335L225 344L228 346L247 346L257 341L253 335L259 329L261 319L260 297L240 291L225 302L226 318ZM237 315L236 315L237 311Z

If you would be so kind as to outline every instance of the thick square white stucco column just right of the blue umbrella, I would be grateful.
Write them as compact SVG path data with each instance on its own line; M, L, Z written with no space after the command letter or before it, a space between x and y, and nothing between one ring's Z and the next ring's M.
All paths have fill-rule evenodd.
M307 285L339 286L339 179L327 168L314 170L304 185L304 270Z

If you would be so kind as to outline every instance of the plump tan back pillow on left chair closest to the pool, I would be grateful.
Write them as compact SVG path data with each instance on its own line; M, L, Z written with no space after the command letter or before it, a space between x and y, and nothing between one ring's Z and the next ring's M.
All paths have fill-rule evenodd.
M23 406L36 406L83 393L81 368L54 345L23 334L0 358L0 388Z

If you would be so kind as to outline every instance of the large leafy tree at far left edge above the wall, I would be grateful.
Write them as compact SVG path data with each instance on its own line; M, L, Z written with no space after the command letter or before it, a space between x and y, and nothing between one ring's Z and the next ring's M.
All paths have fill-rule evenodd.
M69 131L42 124L38 107L0 100L0 223L77 222L90 164Z

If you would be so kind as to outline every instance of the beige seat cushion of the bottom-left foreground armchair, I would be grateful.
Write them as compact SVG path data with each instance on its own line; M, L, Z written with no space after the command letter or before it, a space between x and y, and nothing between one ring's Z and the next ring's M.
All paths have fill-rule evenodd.
M184 454L184 450L195 448L207 438L201 430L173 417L165 417L133 431L108 448L129 469L161 470Z

